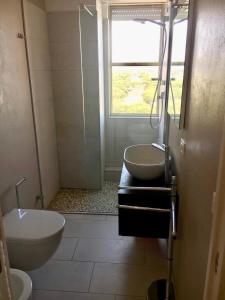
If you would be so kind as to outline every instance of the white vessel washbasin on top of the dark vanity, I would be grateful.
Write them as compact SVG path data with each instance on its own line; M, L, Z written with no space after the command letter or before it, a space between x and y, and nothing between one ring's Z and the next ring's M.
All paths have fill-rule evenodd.
M151 180L163 174L165 153L149 144L133 145L125 149L124 163L134 177Z

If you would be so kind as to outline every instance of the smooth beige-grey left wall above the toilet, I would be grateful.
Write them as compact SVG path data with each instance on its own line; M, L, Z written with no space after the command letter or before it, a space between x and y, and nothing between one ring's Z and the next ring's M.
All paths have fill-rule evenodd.
M0 201L16 207L15 183L22 177L21 206L40 207L35 131L21 2L0 0Z

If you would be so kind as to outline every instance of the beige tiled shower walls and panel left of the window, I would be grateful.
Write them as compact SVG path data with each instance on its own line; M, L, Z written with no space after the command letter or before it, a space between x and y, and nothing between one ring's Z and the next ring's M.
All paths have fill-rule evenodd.
M48 0L23 6L40 197L47 206L59 187L102 187L101 6Z

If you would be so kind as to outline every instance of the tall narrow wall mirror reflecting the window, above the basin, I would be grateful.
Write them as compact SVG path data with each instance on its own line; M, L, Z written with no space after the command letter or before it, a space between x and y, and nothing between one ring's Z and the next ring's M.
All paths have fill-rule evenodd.
M184 127L185 105L188 81L188 60L190 48L190 14L189 5L181 4L171 8L173 21L172 53L170 64L170 86L168 96L168 113L178 128Z

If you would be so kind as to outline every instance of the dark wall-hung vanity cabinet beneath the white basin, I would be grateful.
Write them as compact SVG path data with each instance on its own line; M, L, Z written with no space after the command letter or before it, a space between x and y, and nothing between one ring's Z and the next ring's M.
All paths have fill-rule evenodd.
M165 187L164 177L137 180L123 166L120 186ZM119 189L119 205L170 209L170 192ZM168 238L170 214L119 208L119 234L135 237Z

